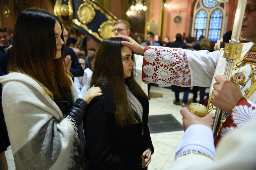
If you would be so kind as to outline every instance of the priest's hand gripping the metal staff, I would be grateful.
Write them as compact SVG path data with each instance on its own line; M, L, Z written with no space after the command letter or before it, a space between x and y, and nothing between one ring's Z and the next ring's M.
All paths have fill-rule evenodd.
M223 75L216 75L217 83L213 84L212 101L223 111L231 113L232 108L243 97L242 92L234 81L227 80Z

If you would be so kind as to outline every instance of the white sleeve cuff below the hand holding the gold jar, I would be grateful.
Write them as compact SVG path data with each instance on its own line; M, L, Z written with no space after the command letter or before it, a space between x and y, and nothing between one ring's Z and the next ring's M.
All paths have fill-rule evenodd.
M214 158L214 140L212 130L208 126L194 124L187 128L176 148L174 161L190 153L203 154Z

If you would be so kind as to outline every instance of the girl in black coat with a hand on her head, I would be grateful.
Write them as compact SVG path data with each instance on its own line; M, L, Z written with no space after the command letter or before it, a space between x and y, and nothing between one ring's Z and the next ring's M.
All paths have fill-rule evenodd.
M102 96L88 105L85 135L88 169L147 169L154 152L148 130L148 100L134 80L132 51L122 39L105 39L96 52L91 85Z

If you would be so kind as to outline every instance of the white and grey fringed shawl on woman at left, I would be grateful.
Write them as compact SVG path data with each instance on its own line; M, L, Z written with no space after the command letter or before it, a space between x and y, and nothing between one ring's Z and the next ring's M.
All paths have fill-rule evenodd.
M77 151L82 146L77 129L42 87L22 73L1 76L0 82L3 84L4 118L16 168L80 169ZM71 92L74 103L77 99L74 86Z

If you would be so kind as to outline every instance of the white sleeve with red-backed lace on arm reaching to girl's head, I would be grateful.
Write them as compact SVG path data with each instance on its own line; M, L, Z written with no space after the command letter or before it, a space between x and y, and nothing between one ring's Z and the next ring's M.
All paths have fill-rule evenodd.
M218 52L155 46L146 48L143 80L147 83L210 87Z

